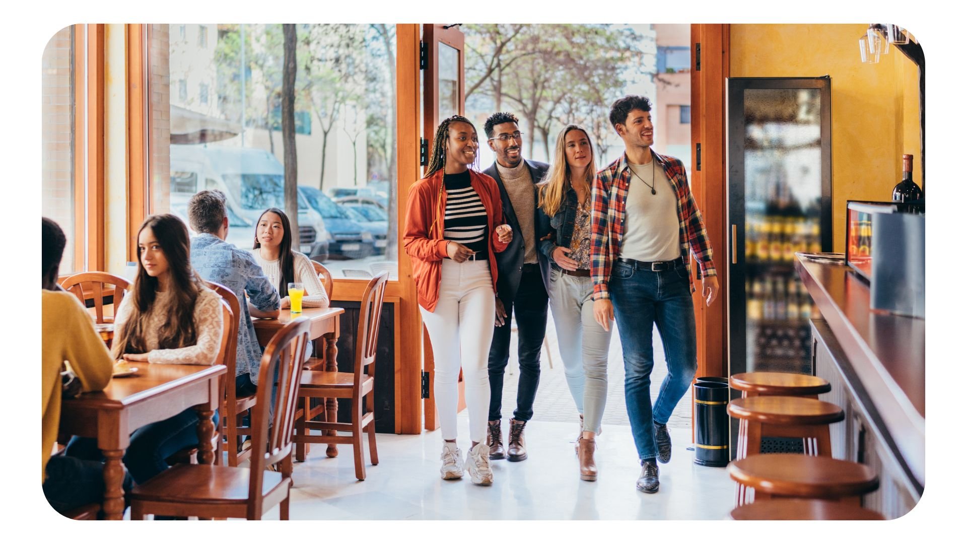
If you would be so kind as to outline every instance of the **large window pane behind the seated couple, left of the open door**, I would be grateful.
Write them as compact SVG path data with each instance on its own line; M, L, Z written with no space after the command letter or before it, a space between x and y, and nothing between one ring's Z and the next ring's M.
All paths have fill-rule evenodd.
M337 278L396 269L396 28L295 31L295 137L286 142L281 25L151 26L151 212L187 221L192 194L220 189L233 218L228 241L251 251L258 217L285 209L284 188L295 183L293 249ZM197 41L173 39L186 32ZM287 148L294 179L285 177Z

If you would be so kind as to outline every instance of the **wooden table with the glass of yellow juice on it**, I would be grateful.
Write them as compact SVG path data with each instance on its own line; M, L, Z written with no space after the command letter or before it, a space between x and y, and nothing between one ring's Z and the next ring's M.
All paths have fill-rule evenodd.
M258 338L259 346L263 348L269 345L269 341L272 337L281 330L282 327L289 324L292 319L296 317L306 317L309 320L310 327L308 338L309 340L316 340L322 338L326 344L325 347L325 359L326 359L326 372L337 372L338 366L336 363L336 354L338 352L336 348L336 342L339 339L339 315L341 315L345 310L342 308L303 308L301 314L292 314L292 312L286 308L279 311L277 318L272 319L262 319L257 317L252 317L252 324L255 326L255 336ZM308 409L308 407L306 407ZM336 399L326 399L326 421L336 421L337 412L337 402ZM329 435L335 435L336 431L327 431ZM299 444L303 445L303 444ZM306 450L308 451L308 444L306 445ZM327 444L326 455L329 457L336 457L339 454L339 450L336 444ZM305 459L305 453L300 451L301 455L297 455L299 461Z

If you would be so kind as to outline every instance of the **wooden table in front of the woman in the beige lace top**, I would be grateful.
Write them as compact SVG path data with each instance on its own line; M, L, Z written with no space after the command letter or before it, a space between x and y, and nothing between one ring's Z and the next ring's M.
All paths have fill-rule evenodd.
M137 373L113 378L103 391L64 399L60 431L78 437L97 438L104 455L104 519L124 516L124 466L121 458L131 434L149 423L177 415L185 408L198 411L198 444L201 463L215 460L212 416L220 404L219 377L224 365L152 365L133 363Z

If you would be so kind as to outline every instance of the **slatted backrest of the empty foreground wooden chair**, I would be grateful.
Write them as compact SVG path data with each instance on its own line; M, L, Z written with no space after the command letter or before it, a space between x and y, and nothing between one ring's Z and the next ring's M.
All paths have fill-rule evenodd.
M278 463L292 451L292 431L295 421L299 381L308 347L309 320L297 317L279 330L262 354L258 373L258 393L252 408L252 455L249 471L249 509L253 514L261 508L262 471ZM278 367L278 381L276 368ZM273 383L278 386L275 413L271 427L269 403ZM231 445L229 446L231 447Z

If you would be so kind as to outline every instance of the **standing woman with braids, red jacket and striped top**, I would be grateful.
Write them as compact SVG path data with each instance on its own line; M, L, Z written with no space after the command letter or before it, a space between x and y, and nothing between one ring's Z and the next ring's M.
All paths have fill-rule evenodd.
M497 182L468 167L477 160L479 147L477 130L467 118L454 115L440 124L426 175L410 189L403 247L412 258L433 347L433 390L444 439L440 474L445 480L460 478L466 467L473 483L489 485L486 363L497 285L494 254L507 249L513 234L504 224ZM461 368L471 440L465 462L456 447Z

